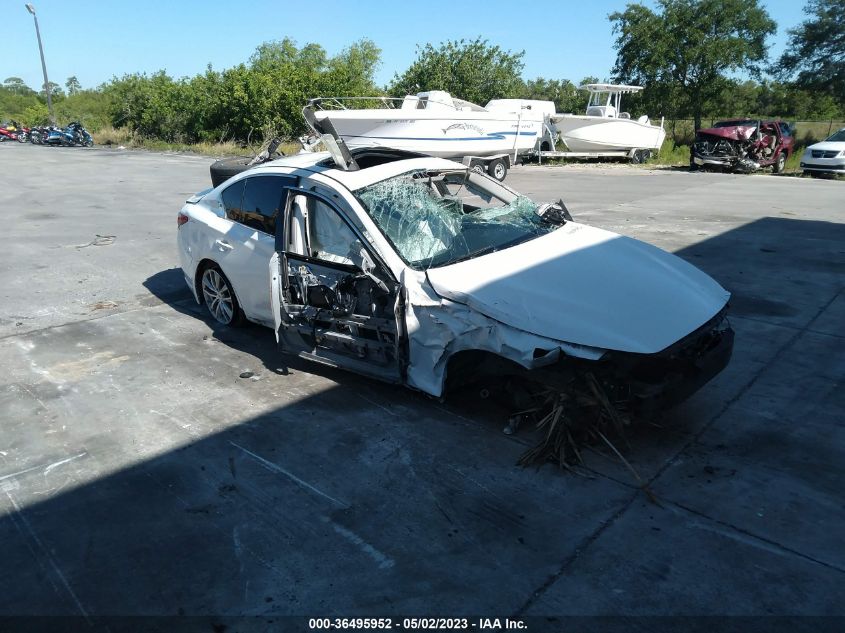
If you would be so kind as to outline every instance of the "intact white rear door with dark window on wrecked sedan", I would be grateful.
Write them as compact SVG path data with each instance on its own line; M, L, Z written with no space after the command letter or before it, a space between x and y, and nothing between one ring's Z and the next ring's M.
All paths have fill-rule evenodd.
M268 301L267 262L275 252L276 218L284 211L290 176L267 174L241 179L221 196L225 208L223 235L213 245L214 256L232 282L247 318L272 325Z

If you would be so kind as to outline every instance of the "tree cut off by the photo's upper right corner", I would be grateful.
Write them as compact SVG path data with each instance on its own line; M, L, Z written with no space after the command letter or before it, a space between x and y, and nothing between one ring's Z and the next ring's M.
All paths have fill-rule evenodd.
M804 13L810 17L790 29L779 74L795 77L798 87L832 95L845 105L845 2L809 0Z

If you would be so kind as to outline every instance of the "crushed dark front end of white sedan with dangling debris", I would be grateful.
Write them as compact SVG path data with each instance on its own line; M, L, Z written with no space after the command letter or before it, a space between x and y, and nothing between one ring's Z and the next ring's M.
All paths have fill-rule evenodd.
M657 354L609 352L599 361L562 359L528 372L510 385L521 391L521 410L506 432L530 423L541 435L520 463L554 461L571 468L592 445L621 457L614 441L624 441L625 427L654 422L692 396L727 367L733 344L734 331L722 310Z

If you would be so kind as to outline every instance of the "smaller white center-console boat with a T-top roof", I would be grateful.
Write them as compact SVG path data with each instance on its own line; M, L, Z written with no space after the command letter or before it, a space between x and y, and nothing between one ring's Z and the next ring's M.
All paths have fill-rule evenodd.
M652 125L648 116L632 119L622 111L622 95L639 92L641 86L617 84L586 84L579 90L589 90L586 114L552 114L548 118L549 131L572 152L631 152L660 149L666 131L663 121Z

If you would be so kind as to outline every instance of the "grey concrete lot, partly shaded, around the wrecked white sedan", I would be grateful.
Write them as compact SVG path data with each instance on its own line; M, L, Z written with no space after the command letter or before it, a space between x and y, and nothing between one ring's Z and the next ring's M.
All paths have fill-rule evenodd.
M845 615L845 183L509 175L734 293L731 365L630 438L656 505L215 327L175 252L210 162L0 145L0 615Z

